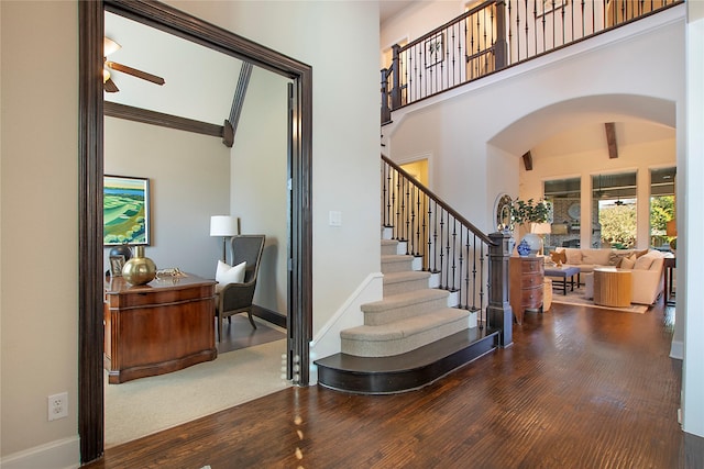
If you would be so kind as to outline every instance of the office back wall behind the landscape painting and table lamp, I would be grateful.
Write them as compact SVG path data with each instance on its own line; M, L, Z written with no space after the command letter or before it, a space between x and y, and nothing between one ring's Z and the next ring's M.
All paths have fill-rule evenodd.
M222 238L210 237L210 215L230 213L230 148L221 138L105 118L105 172L150 179L144 254L158 269L215 278Z

